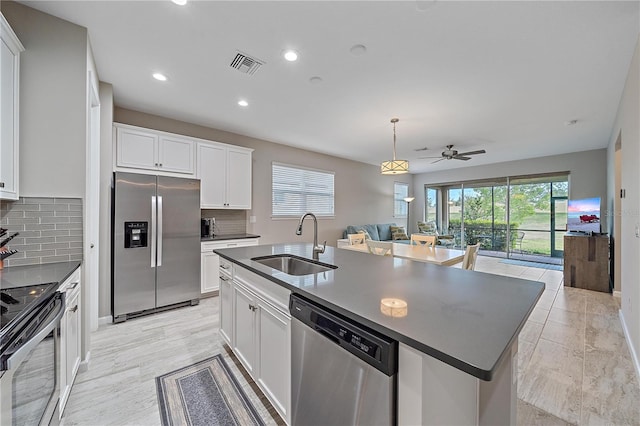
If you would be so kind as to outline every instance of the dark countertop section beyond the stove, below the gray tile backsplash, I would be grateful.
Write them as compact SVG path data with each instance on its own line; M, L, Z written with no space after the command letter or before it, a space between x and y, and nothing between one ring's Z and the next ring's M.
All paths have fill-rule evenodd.
M0 288L9 289L44 283L62 283L79 266L79 261L73 261L6 267L0 270Z

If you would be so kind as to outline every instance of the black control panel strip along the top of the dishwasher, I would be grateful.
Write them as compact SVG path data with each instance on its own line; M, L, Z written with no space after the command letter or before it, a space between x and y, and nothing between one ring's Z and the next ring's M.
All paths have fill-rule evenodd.
M292 294L291 316L387 375L397 372L398 342Z

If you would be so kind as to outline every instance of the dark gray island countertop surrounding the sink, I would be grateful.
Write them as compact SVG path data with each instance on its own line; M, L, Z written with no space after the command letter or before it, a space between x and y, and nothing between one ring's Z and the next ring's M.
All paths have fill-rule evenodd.
M364 324L479 379L490 381L517 339L544 283L327 247L320 262L338 268L292 276L251 259L291 253L311 259L312 244L214 250L293 293ZM381 300L407 303L392 317Z

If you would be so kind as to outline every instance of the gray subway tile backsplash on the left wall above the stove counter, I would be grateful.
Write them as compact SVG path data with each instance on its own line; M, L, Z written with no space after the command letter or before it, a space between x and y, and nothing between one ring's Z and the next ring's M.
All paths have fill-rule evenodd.
M5 267L82 260L82 199L20 198L0 203L0 226L7 236L19 232L7 248L18 253Z

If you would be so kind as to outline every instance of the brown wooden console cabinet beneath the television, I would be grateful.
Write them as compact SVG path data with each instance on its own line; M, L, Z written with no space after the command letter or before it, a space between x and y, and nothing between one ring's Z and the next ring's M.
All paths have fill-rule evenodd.
M564 236L564 285L609 293L609 237Z

